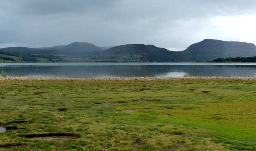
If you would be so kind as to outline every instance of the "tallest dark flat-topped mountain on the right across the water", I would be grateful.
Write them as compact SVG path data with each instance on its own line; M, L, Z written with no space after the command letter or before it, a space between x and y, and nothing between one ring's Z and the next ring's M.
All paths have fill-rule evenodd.
M184 61L210 61L215 58L256 56L256 46L245 42L204 39L178 53L184 56Z

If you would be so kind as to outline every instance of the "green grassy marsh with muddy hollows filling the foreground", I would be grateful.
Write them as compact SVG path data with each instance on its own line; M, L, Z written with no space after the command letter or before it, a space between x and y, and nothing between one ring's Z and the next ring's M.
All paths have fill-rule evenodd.
M256 151L256 81L0 81L0 150Z

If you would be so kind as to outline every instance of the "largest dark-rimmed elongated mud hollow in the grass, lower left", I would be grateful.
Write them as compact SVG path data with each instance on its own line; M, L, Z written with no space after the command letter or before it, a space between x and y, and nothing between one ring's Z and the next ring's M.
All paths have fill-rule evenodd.
M26 134L26 135L18 135L18 137L24 137L35 140L56 140L63 141L67 139L78 139L81 137L79 134L72 133L48 133L48 134Z

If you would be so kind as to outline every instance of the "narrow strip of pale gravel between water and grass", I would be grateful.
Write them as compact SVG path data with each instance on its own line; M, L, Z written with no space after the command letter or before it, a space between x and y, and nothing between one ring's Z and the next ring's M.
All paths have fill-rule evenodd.
M129 78L46 78L46 77L0 77L0 81L37 81L37 80L183 80L183 79L234 79L256 80L256 77L129 77Z

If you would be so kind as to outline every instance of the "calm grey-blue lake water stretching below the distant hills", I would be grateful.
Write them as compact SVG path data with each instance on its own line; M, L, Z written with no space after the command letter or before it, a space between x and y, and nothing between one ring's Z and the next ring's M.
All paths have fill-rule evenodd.
M256 63L0 63L21 77L256 77Z

